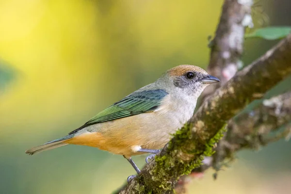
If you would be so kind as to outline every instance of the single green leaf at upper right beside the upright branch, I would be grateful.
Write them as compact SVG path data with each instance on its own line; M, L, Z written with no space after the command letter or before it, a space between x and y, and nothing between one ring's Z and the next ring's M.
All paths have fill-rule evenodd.
M284 38L289 33L291 33L291 27L281 26L281 27L267 27L255 30L252 33L245 34L245 38L264 38L266 40L276 40L279 38Z

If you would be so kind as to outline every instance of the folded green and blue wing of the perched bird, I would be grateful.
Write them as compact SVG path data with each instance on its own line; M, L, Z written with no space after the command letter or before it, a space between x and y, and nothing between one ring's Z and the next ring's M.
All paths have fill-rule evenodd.
M73 134L80 129L97 123L111 121L140 113L152 112L160 106L162 99L166 95L168 95L168 93L162 89L134 92L101 111L83 126L70 132L69 134Z

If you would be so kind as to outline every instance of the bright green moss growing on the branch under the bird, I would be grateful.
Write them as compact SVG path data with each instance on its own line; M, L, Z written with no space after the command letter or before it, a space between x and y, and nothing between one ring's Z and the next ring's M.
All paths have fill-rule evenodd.
M192 137L192 126L185 125L181 130L178 130L173 135L174 138L169 142L167 154L164 156L156 156L156 166L151 170L150 174L154 175L152 179L160 185L155 187L152 185L138 185L136 189L140 191L140 193L148 194L163 194L165 190L173 190L173 184L171 181L169 182L168 179L190 174L194 168L199 167L202 164L204 156L211 156L214 153L212 148L223 137L223 134L226 131L225 127L226 125L224 125L205 145L200 145L201 142L195 142L195 144L193 144L195 139ZM189 146L185 146L185 144L188 144ZM184 147L186 148L184 149ZM184 153L192 154L195 160L191 162L184 162L182 160L178 161L177 158L175 158L178 150L181 150ZM139 182L145 183L145 180L141 177ZM145 188L160 189L155 191L147 191Z

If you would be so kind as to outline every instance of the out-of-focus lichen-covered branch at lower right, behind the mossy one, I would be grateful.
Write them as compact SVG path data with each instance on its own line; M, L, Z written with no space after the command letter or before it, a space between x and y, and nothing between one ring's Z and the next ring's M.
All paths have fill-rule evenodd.
M234 153L239 150L258 149L282 138L288 139L291 134L290 122L291 91L263 100L254 110L228 121L227 132L215 149L211 162L197 171L203 172L209 167L218 171L223 167L224 161L232 161ZM282 132L269 137L271 132L282 126L286 126Z

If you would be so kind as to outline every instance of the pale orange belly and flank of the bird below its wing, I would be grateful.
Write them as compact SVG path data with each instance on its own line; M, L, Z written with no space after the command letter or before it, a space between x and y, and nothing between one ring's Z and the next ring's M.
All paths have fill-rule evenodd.
M159 123L161 119L163 122ZM172 124L172 121L160 118L157 113L143 113L89 126L87 131L96 132L84 132L64 143L97 147L126 156L137 155L142 153L134 152L134 146L162 148L169 141Z

